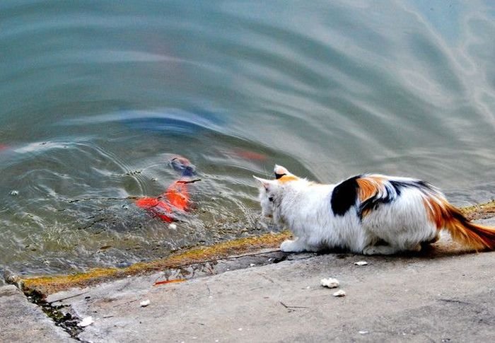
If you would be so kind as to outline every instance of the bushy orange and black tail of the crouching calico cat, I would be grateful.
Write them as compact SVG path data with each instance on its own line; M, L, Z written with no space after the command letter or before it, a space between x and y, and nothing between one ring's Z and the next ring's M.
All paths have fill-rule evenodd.
M427 209L439 230L446 229L453 240L475 250L495 250L495 228L472 223L448 202L432 203Z

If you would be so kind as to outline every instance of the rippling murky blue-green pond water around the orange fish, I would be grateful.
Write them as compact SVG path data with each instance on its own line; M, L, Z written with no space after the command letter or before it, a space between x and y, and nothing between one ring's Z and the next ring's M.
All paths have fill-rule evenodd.
M0 266L269 231L251 175L274 163L491 199L494 37L492 1L0 1ZM202 178L176 229L127 199L163 192L173 154Z

